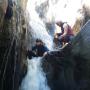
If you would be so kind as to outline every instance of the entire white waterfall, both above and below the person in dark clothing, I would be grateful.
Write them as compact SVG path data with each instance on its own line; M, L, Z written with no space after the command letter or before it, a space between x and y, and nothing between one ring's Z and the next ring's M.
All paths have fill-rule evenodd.
M28 38L31 35L33 40L39 38L49 50L53 49L53 39L46 30L43 20L35 10L36 0L28 0L26 7L26 17L28 22ZM34 42L34 41L33 41ZM28 42L30 47L31 42ZM32 58L28 61L28 69L25 78L23 79L20 90L50 90L47 85L45 73L42 70L42 58Z

